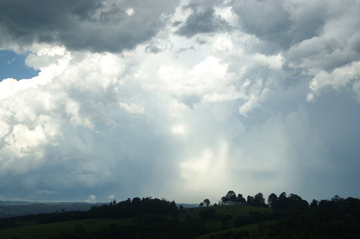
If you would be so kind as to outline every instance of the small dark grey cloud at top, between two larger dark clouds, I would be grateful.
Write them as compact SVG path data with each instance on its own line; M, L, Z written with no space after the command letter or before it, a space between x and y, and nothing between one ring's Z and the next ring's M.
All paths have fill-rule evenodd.
M213 33L218 31L230 30L230 26L220 16L215 15L213 8L208 8L203 12L193 12L185 25L181 26L175 34L191 38L199 33Z

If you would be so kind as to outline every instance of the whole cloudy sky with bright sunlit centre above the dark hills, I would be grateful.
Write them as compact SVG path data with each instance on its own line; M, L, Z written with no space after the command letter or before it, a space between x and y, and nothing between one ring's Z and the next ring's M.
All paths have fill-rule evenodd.
M0 0L0 200L359 198L359 12Z

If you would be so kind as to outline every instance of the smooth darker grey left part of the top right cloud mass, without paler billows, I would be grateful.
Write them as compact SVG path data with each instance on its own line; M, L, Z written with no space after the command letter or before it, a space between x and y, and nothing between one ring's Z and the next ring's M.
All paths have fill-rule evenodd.
M244 32L266 41L267 48L285 50L319 34L328 15L325 7L314 4L304 10L274 0L243 1L233 11Z

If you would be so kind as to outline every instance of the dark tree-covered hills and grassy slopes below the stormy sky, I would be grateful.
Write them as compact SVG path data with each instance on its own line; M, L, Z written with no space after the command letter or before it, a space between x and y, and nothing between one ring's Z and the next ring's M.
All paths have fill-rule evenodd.
M240 195L229 191L219 204L244 201ZM260 193L247 199L252 206L198 208L158 198L114 200L88 211L0 219L0 238L360 238L358 198L314 199L310 205L296 194L271 194L267 204Z

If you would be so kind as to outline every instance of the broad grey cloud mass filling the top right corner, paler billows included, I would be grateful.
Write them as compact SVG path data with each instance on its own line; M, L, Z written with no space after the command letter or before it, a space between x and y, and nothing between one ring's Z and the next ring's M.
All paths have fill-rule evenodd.
M285 66L295 72L309 67L332 71L360 59L355 9L359 5L354 1L341 5L238 1L233 5L240 29L259 40L247 50L265 55L286 52Z

